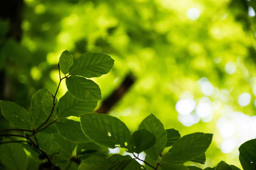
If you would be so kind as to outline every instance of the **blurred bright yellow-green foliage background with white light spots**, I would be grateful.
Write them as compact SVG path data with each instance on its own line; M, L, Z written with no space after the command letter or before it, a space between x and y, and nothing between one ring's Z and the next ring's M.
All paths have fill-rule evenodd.
M1 4L1 99L29 109L37 89L56 89L63 50L75 58L107 53L115 66L95 80L103 99L127 74L135 80L109 114L131 131L154 113L182 136L213 133L205 166L225 160L241 167L237 148L256 137L255 0ZM65 91L63 84L59 97ZM1 118L1 128L6 125Z

